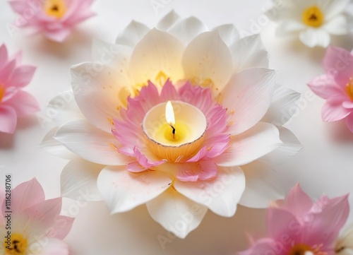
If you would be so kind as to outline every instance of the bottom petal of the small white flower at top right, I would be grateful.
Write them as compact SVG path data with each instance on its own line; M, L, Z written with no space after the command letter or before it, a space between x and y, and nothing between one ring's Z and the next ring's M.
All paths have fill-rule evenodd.
M328 47L330 45L330 35L325 30L308 28L299 34L299 38L308 47Z

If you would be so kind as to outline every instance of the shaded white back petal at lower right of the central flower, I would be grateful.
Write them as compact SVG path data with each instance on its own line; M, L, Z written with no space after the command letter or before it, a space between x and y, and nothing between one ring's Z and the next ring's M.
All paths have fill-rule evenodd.
M256 160L241 166L245 174L245 190L239 204L249 208L266 208L270 201L284 198L280 177L265 162Z

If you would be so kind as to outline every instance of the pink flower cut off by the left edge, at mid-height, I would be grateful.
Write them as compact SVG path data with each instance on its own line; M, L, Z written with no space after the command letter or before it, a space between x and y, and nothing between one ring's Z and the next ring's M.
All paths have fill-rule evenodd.
M0 132L13 134L18 117L39 110L35 98L23 91L32 80L34 66L21 64L22 53L8 56L5 45L0 47Z

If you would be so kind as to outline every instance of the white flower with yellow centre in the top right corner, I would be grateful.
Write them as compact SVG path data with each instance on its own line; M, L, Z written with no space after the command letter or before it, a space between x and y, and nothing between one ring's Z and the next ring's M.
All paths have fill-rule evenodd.
M267 16L280 36L297 34L308 47L328 47L330 35L347 35L350 0L273 0Z

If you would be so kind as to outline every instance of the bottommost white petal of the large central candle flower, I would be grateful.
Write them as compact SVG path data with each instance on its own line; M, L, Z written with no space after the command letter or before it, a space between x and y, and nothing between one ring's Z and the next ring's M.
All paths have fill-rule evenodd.
M147 203L153 220L179 238L185 238L200 225L207 207L195 203L170 187Z

